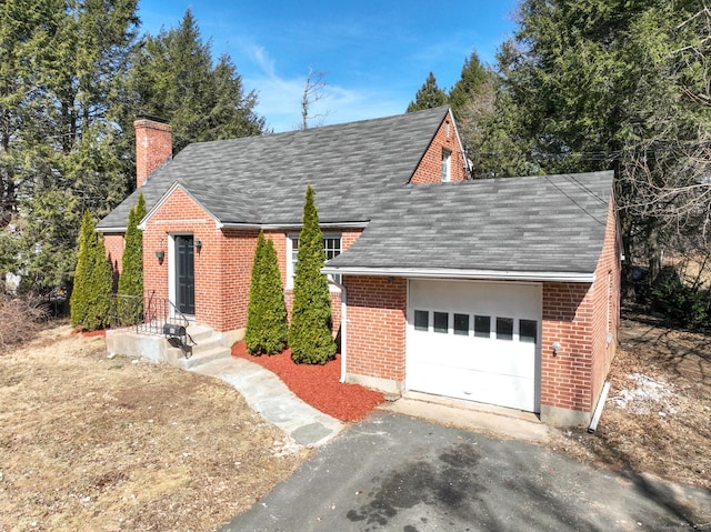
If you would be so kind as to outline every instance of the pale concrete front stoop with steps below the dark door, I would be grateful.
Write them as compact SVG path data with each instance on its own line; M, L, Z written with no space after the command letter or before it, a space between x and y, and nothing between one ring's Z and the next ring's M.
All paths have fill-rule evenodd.
M109 354L141 357L157 363L167 363L179 368L192 369L231 355L230 348L219 332L209 327L191 324L188 334L194 345L188 349L188 355L164 337L140 334L134 329L107 331L107 351Z

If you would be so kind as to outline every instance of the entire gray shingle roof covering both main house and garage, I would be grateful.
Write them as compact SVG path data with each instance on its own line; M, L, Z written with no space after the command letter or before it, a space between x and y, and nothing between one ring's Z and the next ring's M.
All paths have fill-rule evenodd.
M222 223L369 222L327 270L591 274L613 172L407 184L448 108L188 145L142 188L148 210L182 185ZM138 192L99 230L124 228Z

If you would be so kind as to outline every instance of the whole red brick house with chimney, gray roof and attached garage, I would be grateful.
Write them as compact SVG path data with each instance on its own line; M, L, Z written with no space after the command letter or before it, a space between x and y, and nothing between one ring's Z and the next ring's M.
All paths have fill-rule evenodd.
M449 108L172 160L169 126L136 128L146 298L240 340L263 230L290 305L311 183L344 382L590 421L619 320L612 172L470 181ZM137 194L98 225L117 270Z

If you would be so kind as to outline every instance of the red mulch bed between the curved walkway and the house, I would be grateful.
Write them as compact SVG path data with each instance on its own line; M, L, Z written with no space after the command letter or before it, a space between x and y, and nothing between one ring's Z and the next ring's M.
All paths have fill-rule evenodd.
M232 347L232 357L258 363L276 373L302 401L314 409L341 421L360 421L378 404L384 402L383 394L359 384L344 384L341 378L340 354L323 365L297 364L291 351L260 357L247 352L247 344Z

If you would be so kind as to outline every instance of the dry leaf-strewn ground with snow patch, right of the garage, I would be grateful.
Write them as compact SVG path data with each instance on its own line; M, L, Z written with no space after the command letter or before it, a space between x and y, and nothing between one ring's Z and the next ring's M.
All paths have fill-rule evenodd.
M711 490L711 337L628 311L594 434L562 431L573 458Z

